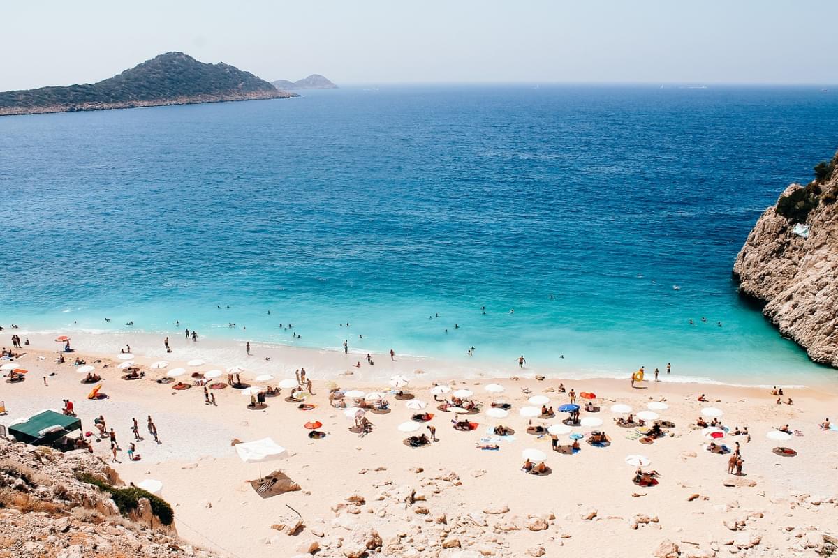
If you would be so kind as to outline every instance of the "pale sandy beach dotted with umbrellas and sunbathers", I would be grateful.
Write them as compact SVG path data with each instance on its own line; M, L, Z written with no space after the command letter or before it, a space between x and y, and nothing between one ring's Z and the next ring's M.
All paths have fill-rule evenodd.
M821 535L838 525L838 432L818 426L826 417L835 418L836 398L821 387L786 387L783 401L794 401L788 405L777 404L777 397L764 387L681 383L665 371L661 381L643 381L636 387L628 378L539 381L532 377L535 371L505 363L490 371L453 368L446 377L444 363L399 356L391 361L390 356L373 355L375 366L369 366L364 355L354 353L251 346L251 356L246 356L237 345L210 348L173 338L173 353L167 354L157 337L77 337L75 352L60 365L54 363L60 346L49 335L31 337L32 345L24 347L26 355L18 361L28 370L26 380L2 384L0 400L8 414L0 423L44 408L60 409L65 398L74 402L85 430L95 430L93 418L102 415L122 448L112 465L122 479L162 481L163 498L175 509L178 533L223 555L305 555L303 550L314 548L320 549L317 555L352 555L352 545L370 529L380 535L383 555L676 555L662 545L665 541L677 545L683 556L815 555ZM136 366L146 372L142 380L120 379L117 347L126 343L132 346ZM84 374L70 364L76 356L88 364L98 361L94 366L103 378L106 398L86 398L91 386L81 383ZM195 358L205 363L187 366ZM149 368L159 360L169 366ZM362 362L360 368L352 366L356 361ZM242 380L252 385L276 385L304 367L314 378L314 395L306 400L314 408L298 409L284 400L290 390L282 390L279 397L266 399L264 410L251 410L250 397L232 388L213 390L217 405L207 405L202 387L176 391L172 384L154 381L176 367L192 372L234 364L246 369ZM254 381L265 373L275 379ZM434 414L428 424L437 428L437 442L422 448L402 443L408 434L397 427L417 411L391 393L389 412L367 413L374 427L363 437L349 432L352 421L343 409L329 406L327 381L341 390L386 393L391 387L385 378L395 374L407 376L405 391L414 400L428 402L427 412ZM225 379L226 374L220 381ZM178 380L192 381L189 374ZM650 374L646 380L651 380ZM453 413L437 409L439 402L429 392L432 383L473 391L469 398L483 403L479 412L468 415L478 423L473 431L453 428ZM504 392L486 392L489 383L499 383ZM556 391L560 383L566 392ZM603 426L574 427L574 433L584 435L580 451L553 452L551 436L527 433L527 427L530 422L559 424L566 413L529 419L520 409L533 395L548 397L547 405L557 408L570 402L567 392L572 389L596 394L591 401L598 411L583 411L582 418L598 417ZM702 393L707 402L697 400ZM509 417L488 417L492 401L509 403ZM615 424L614 419L625 414L610 408L622 403L636 413L647 410L649 402L665 402L668 408L658 411L660 418L675 426L665 428L665 437L644 444L634 427ZM710 406L722 410L721 421L731 432L747 427L750 433L749 440L731 433L717 440L731 448L740 443L741 476L727 474L729 455L706 450L711 440L702 435L696 419L702 407ZM158 427L159 444L145 428L148 415ZM140 423L143 438L137 442L141 459L135 462L129 462L125 452L133 438L132 417ZM312 421L323 423L319 430L327 433L325 438L308 437L310 431L303 425ZM501 438L498 450L478 449L481 438L491 436L498 424L515 429L514 436ZM788 441L767 438L786 424L794 433ZM594 430L608 435L607 447L588 443ZM289 457L262 463L261 473L280 469L301 490L262 499L251 488L247 481L259 477L260 465L242 463L231 440L264 437L287 448ZM572 443L567 435L558 438L563 446ZM106 440L93 445L96 454L111 461ZM778 446L794 448L797 455L781 457L772 451ZM535 476L521 470L522 452L528 448L546 453L551 474ZM625 458L634 454L649 458L644 470L654 469L659 484L633 483L636 467ZM296 518L295 512L304 525L295 535L272 529Z

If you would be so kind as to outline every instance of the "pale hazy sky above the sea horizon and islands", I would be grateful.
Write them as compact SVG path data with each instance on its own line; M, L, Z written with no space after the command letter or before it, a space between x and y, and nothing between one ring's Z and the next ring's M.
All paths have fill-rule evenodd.
M180 50L262 78L834 83L838 0L41 0L5 3L0 90Z

